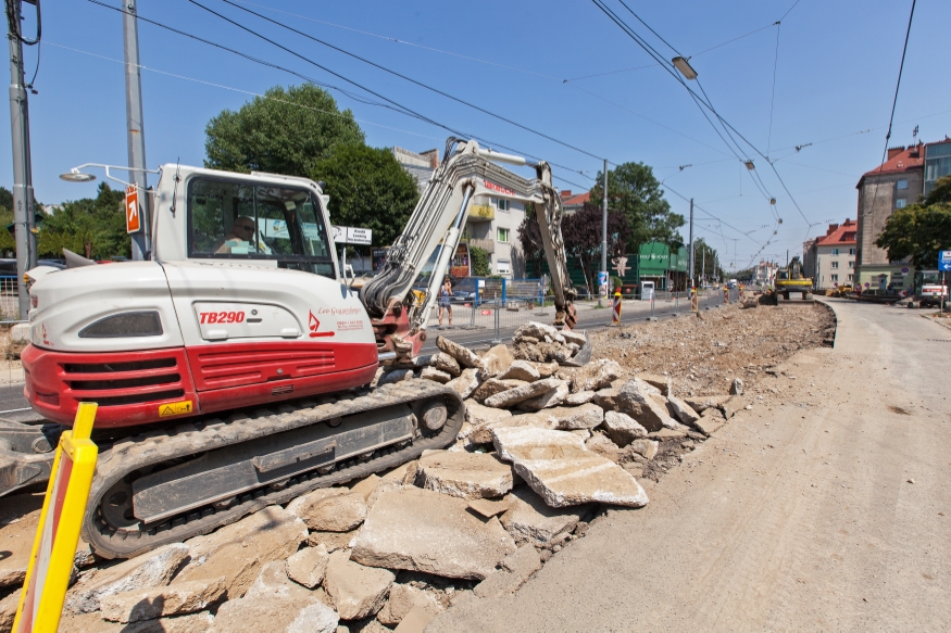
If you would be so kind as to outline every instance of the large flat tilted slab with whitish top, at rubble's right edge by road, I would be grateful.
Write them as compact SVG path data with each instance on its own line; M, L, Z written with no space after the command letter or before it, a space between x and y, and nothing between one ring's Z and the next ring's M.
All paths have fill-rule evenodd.
M585 450L581 438L533 428L493 429L499 456L552 507L599 502L641 507L647 494L616 464Z

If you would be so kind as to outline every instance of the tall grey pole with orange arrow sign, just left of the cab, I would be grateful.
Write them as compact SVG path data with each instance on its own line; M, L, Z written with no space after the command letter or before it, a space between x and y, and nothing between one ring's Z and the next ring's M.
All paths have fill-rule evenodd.
M146 138L142 129L142 72L139 67L139 26L136 0L124 0L122 36L125 45L125 118L128 135L128 166L139 192L140 228L130 233L133 259L145 259L151 250L151 213L146 177ZM126 210L128 213L128 210Z

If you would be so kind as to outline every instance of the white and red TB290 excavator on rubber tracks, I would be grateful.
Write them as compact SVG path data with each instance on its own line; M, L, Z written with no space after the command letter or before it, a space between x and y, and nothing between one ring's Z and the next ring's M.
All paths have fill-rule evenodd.
M526 179L499 163L534 166ZM379 274L356 288L306 178L167 164L149 261L34 268L24 393L47 423L0 426L0 494L49 478L79 403L98 403L100 457L83 537L127 558L455 441L450 387L371 388L412 362L474 197L533 202L555 326L575 309L562 206L545 162L450 138ZM423 265L436 266L422 301ZM590 355L590 344L575 356Z

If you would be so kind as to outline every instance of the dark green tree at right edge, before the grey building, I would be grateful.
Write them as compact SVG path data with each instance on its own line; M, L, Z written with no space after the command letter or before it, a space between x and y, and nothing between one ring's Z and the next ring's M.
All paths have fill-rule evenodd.
M921 202L892 213L875 245L888 251L891 262L911 257L917 270L937 266L938 251L951 249L951 176Z

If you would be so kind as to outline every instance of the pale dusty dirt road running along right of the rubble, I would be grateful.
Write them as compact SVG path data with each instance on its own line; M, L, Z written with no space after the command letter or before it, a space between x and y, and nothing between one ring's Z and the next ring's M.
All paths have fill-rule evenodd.
M835 349L793 356L645 509L427 631L947 630L951 330L829 303Z

